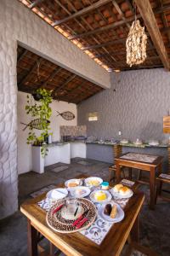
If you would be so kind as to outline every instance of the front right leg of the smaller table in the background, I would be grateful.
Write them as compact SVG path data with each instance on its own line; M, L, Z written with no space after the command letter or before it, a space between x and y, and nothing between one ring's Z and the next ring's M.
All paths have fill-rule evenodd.
M156 195L156 168L150 167L150 209L155 208Z

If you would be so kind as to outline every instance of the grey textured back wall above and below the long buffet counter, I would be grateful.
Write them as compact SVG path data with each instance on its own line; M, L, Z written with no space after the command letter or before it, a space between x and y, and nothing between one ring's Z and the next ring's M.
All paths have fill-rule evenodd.
M78 105L78 125L87 125L88 136L98 138L117 139L118 131L122 131L122 138L131 141L140 138L165 142L168 135L162 133L162 118L169 109L169 72L150 69L111 73L111 90ZM87 114L95 111L99 113L99 121L89 122ZM111 147L103 150L99 148L102 146L96 147L88 145L88 157L112 162ZM148 149L147 153L150 152ZM166 154L164 149L161 154Z

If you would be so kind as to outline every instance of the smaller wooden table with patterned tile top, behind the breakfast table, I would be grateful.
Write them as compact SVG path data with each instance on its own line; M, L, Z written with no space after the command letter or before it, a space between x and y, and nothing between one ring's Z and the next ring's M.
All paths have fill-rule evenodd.
M155 207L156 169L161 174L163 157L150 154L127 153L116 158L116 183L121 181L121 166L136 168L150 172L150 209Z

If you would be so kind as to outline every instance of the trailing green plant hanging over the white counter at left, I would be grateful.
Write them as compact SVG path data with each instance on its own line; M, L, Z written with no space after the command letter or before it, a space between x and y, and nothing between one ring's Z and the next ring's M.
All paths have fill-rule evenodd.
M37 89L36 93L42 96L42 98L35 103L34 105L31 105L31 97L27 95L27 105L26 105L26 113L31 114L32 119L39 119L39 126L41 127L41 134L40 136L37 136L35 131L33 129L33 125L29 126L29 133L27 137L27 144L32 144L35 146L42 146L41 148L41 154L44 157L48 154L48 148L46 147L44 143L44 138L48 137L52 133L49 132L50 130L50 122L48 119L51 117L52 109L49 107L49 104L53 101L53 98L51 96L52 91L45 90L45 89Z

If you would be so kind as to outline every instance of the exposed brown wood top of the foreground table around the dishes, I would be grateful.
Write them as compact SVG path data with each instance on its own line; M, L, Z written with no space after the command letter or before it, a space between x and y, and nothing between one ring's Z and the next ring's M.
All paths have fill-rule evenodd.
M84 176L77 178L80 177ZM56 187L61 186L64 187L63 184L59 184ZM114 224L107 236L105 236L104 241L97 245L79 232L61 234L51 230L46 223L46 212L37 206L37 202L44 199L45 195L46 193L26 201L21 205L20 211L31 220L31 225L51 241L54 246L58 247L66 255L74 256L119 255L144 202L144 194L135 191L133 197L130 198L124 208L125 218L120 223Z

